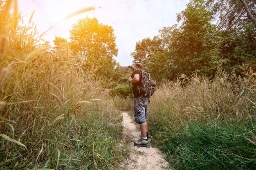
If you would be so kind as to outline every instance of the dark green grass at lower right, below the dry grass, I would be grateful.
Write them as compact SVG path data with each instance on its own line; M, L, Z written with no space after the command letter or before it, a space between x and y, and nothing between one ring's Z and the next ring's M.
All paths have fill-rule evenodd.
M195 123L184 124L178 132L164 135L157 135L157 127L150 127L150 132L175 169L253 170L256 167L256 145L245 137L252 139L248 129L255 133L254 125Z

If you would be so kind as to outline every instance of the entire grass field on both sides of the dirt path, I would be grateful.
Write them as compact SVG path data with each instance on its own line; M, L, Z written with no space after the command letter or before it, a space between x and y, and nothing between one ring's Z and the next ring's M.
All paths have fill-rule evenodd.
M129 157L119 111L132 114L133 99L102 88L67 41L53 50L33 22L19 26L11 3L0 4L0 169L118 169ZM148 129L174 169L255 169L256 73L240 72L157 87Z

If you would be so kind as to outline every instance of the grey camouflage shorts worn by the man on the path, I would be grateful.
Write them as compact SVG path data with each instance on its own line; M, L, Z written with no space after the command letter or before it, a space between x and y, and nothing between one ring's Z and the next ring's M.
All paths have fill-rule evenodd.
M134 98L133 112L136 123L145 123L148 119L148 97Z

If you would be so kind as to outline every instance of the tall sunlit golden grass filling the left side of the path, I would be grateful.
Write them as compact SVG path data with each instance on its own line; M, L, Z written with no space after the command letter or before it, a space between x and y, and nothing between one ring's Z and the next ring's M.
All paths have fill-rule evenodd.
M115 169L126 148L109 90L67 42L53 51L34 23L17 25L11 4L0 4L0 169Z

